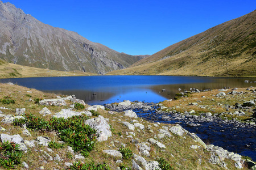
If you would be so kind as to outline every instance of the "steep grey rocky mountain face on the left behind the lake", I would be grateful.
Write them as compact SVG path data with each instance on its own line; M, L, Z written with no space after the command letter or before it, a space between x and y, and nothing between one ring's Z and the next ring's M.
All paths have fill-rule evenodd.
M116 52L0 1L0 58L24 66L105 74L124 69L143 56Z

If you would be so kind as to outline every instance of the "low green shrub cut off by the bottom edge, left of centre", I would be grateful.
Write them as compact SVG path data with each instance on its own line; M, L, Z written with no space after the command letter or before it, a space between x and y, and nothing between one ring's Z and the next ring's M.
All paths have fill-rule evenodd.
M68 169L71 170L110 170L110 167L106 164L94 164L92 163L81 163L81 162L76 162L73 163Z

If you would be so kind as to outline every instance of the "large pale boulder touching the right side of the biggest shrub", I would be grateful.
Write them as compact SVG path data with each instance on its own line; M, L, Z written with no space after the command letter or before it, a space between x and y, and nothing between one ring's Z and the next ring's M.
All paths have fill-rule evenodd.
M97 141L106 141L108 140L108 137L112 137L110 126L105 118L101 115L96 118L86 120L85 124L89 125L90 128L97 130Z

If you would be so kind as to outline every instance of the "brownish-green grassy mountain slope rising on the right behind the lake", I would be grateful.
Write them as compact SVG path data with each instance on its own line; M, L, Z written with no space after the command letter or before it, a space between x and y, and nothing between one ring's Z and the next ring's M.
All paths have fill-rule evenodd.
M256 10L109 74L256 76Z

